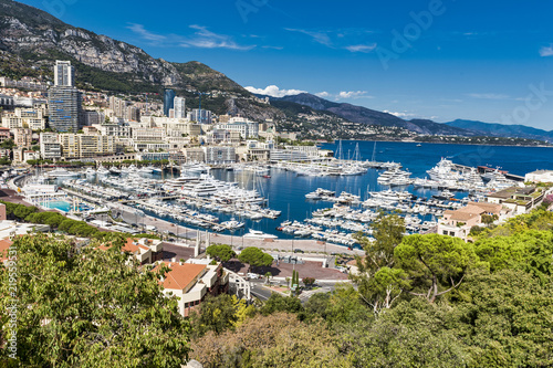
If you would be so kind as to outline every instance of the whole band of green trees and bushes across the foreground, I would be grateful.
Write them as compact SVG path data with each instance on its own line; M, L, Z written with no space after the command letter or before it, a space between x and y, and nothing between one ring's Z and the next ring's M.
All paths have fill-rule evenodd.
M189 357L205 367L553 365L552 212L539 209L484 229L473 243L403 236L401 228L394 215L376 222L376 241L365 241L358 259L357 288L338 286L304 304L280 294L257 305L222 295L188 319L161 295L157 276L125 265L127 255L116 248L76 250L53 236L19 238L18 297L31 306L18 315L20 362L178 367ZM216 253L233 255L223 248ZM7 295L7 269L0 277ZM3 308L7 299L0 303ZM8 317L1 318L7 339Z

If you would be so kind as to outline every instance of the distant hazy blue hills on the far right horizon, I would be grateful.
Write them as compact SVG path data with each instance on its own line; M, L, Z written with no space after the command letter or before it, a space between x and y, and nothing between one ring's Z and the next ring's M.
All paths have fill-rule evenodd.
M541 139L550 143L553 141L553 130L547 132L525 125L492 124L492 123L482 123L477 120L461 120L461 119L457 119L455 122L449 122L445 124L451 127L477 132L482 136L518 137L518 138L529 138L529 139Z

